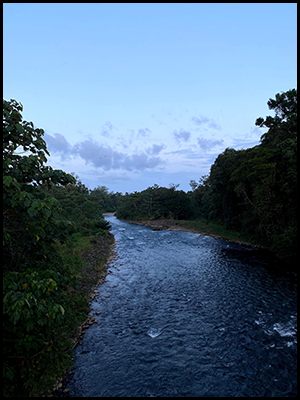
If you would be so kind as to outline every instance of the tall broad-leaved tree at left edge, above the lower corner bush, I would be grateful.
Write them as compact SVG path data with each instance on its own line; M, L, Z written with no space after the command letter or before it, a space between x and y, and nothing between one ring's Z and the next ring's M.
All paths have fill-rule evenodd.
M15 100L3 100L3 252L9 270L43 264L51 257L53 239L66 239L69 222L55 217L57 201L39 187L74 182L44 165L49 155L44 132L22 121L21 111Z

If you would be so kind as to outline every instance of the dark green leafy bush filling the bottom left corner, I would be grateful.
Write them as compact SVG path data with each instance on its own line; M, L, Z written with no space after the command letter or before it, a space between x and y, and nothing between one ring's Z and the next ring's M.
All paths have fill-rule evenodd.
M3 281L4 395L38 394L70 365L61 305L66 278L55 270L6 272Z

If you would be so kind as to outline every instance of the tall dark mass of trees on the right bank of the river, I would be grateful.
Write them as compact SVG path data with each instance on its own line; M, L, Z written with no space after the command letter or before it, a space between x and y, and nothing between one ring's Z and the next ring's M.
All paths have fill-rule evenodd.
M297 237L297 90L277 94L268 106L275 117L258 118L268 128L261 144L226 149L207 179L191 182L198 215L224 223L296 261Z

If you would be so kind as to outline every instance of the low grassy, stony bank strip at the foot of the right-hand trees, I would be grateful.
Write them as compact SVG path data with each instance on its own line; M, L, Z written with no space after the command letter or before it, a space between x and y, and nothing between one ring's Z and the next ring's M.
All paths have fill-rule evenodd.
M122 220L122 219L121 219ZM263 248L251 238L242 235L240 232L226 229L223 225L205 219L195 220L122 220L137 225L144 225L156 231L186 231L198 233L201 236L210 236L214 239L223 239L243 246Z

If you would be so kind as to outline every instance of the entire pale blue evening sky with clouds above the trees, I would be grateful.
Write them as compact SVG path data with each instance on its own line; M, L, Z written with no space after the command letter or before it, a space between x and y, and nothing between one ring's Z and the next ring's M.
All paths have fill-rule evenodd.
M296 3L4 3L3 98L89 189L190 190L297 87Z

